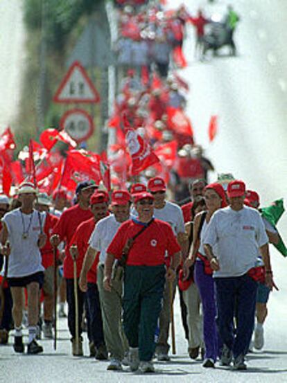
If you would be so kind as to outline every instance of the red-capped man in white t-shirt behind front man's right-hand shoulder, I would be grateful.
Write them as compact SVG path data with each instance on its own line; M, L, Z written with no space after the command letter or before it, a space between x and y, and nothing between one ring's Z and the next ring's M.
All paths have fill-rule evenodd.
M166 184L162 177L151 178L148 181L148 190L155 198L154 217L157 218L157 220L162 220L171 225L173 233L175 233L177 241L182 247L183 256L186 256L188 244L184 229L182 209L176 204L166 201ZM162 312L159 316L159 337L157 341L157 348L155 350L159 361L169 360L168 330L171 318L171 299L174 297L175 286L176 281L173 286L173 296L171 296L171 290L168 283L166 283L166 287L164 289Z

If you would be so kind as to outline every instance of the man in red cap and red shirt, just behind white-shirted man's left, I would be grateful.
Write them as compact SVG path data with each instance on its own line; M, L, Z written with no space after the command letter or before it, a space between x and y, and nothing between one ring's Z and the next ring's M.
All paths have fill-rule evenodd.
M96 222L106 217L109 203L109 195L103 190L96 191L91 199L90 206L94 217L82 222L71 239L70 251L77 260L78 265L82 265L85 253L89 247L89 238L94 231ZM96 268L98 267L98 254L94 263L87 273L87 335L89 338L89 350L91 356L96 356L98 360L107 359L107 349L103 335L103 320L101 315L101 303L96 285ZM82 269L82 267L80 267Z

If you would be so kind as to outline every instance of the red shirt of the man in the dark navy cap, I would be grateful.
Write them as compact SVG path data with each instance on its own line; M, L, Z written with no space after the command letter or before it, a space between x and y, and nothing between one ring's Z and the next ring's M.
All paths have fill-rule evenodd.
M73 234L75 233L79 224L84 221L89 220L93 217L92 211L84 210L80 208L77 204L71 208L65 210L55 228L53 229L53 234L58 234L60 240L66 242L65 254L64 257L64 278L73 278L73 260L69 252L69 246Z

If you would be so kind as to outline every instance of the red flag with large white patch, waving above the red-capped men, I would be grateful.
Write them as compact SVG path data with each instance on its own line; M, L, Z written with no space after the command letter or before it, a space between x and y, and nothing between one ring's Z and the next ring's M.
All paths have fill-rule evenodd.
M153 163L159 162L159 158L136 130L128 128L125 133L125 141L128 145L130 157L132 157L131 175L138 175Z

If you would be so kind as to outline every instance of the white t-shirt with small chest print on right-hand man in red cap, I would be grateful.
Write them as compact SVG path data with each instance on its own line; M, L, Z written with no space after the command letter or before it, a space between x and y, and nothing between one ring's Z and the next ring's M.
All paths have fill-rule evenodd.
M234 211L227 206L211 217L204 243L217 244L220 270L214 271L214 277L241 276L256 265L258 249L268 243L268 236L254 208Z

